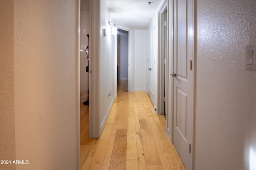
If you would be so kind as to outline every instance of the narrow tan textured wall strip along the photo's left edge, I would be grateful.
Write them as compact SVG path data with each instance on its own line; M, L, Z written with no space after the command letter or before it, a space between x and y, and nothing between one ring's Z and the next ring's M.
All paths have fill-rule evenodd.
M15 160L14 120L14 10L10 0L0 1L0 160ZM13 170L15 165L1 165Z

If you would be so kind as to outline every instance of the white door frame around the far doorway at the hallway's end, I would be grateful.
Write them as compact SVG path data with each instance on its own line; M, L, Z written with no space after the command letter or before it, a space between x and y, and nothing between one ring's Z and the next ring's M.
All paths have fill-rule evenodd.
M134 61L133 46L132 46L132 44L133 44L133 29L124 27L122 25L117 25L117 24L116 24L116 27L118 29L128 31L128 92L133 92L134 91L134 86L133 86L133 81L132 81L133 80L133 61Z

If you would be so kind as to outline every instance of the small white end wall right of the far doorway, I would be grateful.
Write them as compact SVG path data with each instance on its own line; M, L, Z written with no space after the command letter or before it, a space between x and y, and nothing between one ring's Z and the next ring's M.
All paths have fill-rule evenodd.
M134 63L132 91L146 91L147 31L134 30Z

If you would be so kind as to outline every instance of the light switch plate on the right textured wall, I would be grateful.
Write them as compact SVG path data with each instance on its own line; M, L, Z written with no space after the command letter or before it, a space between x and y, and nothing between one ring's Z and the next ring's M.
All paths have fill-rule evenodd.
M245 47L245 69L256 70L256 45Z

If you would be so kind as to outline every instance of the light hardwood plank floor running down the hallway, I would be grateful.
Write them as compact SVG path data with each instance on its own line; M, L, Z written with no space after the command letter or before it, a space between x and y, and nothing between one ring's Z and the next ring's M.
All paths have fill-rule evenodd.
M127 92L118 81L117 98L99 139L88 138L88 106L81 104L81 170L185 170L146 92Z

